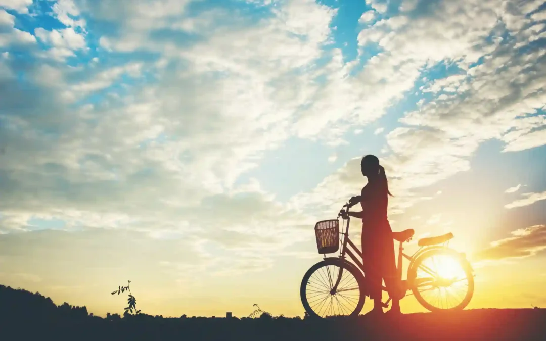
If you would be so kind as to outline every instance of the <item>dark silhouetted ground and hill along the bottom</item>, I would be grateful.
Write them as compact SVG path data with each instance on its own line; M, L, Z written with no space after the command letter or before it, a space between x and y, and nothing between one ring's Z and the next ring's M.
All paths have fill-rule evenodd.
M546 309L474 309L450 313L330 318L106 318L86 307L0 285L1 340L545 340Z

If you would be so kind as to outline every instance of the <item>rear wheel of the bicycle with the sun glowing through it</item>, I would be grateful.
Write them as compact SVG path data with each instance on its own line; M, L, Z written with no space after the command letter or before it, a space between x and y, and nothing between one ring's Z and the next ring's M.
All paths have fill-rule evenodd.
M417 301L431 312L464 309L474 294L470 263L450 249L420 255L408 269L407 279Z

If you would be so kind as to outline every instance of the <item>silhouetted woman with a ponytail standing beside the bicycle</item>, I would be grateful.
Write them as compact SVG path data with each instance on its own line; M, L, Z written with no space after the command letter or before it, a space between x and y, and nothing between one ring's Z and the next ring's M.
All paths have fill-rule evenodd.
M365 266L366 282L369 283L369 295L373 300L375 315L383 313L382 284L393 298L393 306L389 312L400 313L400 279L397 277L396 260L394 255L393 231L387 219L387 204L389 192L385 169L379 164L375 155L366 155L360 163L362 175L367 177L368 183L358 196L349 200L350 204L360 201L361 212L349 212L348 215L362 219L362 254ZM347 212L342 211L347 218Z

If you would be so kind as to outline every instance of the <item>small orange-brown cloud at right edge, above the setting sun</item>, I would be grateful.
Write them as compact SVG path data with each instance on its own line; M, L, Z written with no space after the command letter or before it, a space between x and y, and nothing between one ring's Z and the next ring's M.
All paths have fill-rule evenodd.
M478 260L524 258L546 249L546 225L535 225L511 232L512 237L490 243L476 254Z

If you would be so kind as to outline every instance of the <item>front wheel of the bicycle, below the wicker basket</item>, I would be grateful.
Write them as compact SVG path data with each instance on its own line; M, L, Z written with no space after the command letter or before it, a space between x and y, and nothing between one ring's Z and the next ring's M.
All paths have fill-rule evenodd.
M301 280L300 297L313 318L358 316L366 298L364 276L347 261L327 258L307 270Z

